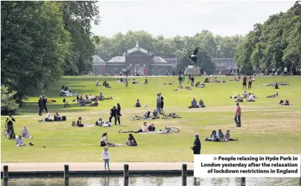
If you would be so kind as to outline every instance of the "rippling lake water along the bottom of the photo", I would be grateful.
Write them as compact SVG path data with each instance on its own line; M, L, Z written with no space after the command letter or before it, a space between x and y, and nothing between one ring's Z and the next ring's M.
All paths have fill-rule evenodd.
M240 178L193 178L187 177L187 186L240 186ZM298 178L246 178L246 186L297 186ZM1 180L1 185L4 181ZM63 178L11 178L9 186L63 186ZM69 179L70 186L119 186L124 185L123 177L77 177ZM179 176L132 176L129 186L177 186L182 185Z

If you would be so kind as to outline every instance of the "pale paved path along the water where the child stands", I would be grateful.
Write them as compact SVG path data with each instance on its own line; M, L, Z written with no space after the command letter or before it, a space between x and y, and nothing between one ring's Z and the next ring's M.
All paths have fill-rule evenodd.
M193 170L191 162L128 162L128 163L110 163L112 171L122 171L124 164L129 165L129 171L154 171L154 170L181 170L182 164L187 164L187 170ZM1 163L1 171L3 166L8 166L8 172L20 171L64 171L64 165L69 165L70 171L104 171L103 162L88 163Z

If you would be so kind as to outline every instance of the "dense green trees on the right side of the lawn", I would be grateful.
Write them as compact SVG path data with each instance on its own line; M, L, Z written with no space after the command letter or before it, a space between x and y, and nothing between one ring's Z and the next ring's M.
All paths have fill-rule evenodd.
M285 13L269 16L263 24L255 24L252 31L238 44L236 61L241 73L273 73L288 68L297 74L301 68L301 4Z

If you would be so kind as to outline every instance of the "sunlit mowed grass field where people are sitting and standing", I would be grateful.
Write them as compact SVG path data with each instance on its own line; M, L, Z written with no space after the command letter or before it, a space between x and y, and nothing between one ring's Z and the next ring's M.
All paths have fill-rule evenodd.
M143 82L145 77L134 77ZM27 125L33 139L25 139L25 143L34 142L34 147L15 147L14 140L1 138L1 162L92 162L102 161L100 146L101 135L108 132L108 140L121 143L127 140L128 134L118 133L121 130L138 130L142 120L132 121L136 115L143 116L146 110L155 109L156 94L161 92L165 97L165 113L177 113L183 118L172 120L148 120L155 123L157 129L165 125L180 129L178 133L167 135L134 134L138 147L110 147L111 161L137 162L171 162L192 161L194 134L200 133L202 154L300 154L301 152L301 77L256 77L252 90L259 99L255 102L241 103L242 127L236 128L233 120L236 111L235 99L229 96L242 94L242 82L231 82L233 77L219 77L226 83L207 83L205 88L193 88L191 91L173 91L177 85L163 85L163 82L177 82L174 77L147 77L149 85L132 85L125 88L124 83L117 83L117 77L63 77L56 85L44 92L56 103L48 104L51 113L59 111L67 116L64 122L39 123L44 119L38 116L37 101L39 95L30 97L25 106L20 109L20 116L15 116L15 133L20 134L23 125ZM203 82L205 77L196 77L195 82ZM212 78L213 79L213 78ZM112 89L103 86L96 87L96 80L107 80ZM133 77L129 78L132 82ZM291 86L281 86L278 89L278 99L266 99L275 94L273 87L262 87L262 83L287 81ZM187 85L188 77L186 77ZM68 85L73 92L79 94L92 93L94 96L103 92L105 97L114 100L99 102L97 107L80 107L72 99L70 109L63 108L63 97L59 96L60 87ZM203 99L204 109L188 109L193 97ZM141 105L148 107L134 108L136 99ZM281 99L289 99L291 106L281 106ZM122 126L112 128L74 128L72 120L82 116L82 123L94 125L98 118L108 120L112 106L120 103L122 107ZM5 130L5 116L1 116L1 132ZM205 142L212 130L231 130L231 137L238 142ZM44 148L45 146L46 148Z

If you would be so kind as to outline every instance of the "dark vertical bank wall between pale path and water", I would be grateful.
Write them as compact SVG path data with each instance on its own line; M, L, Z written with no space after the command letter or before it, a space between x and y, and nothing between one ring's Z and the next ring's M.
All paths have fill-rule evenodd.
M141 170L141 171L129 171L129 175L179 175L181 176L181 170ZM124 171L69 171L70 177L77 176L89 176L89 175L123 175ZM193 175L193 170L187 170L187 175ZM9 178L28 178L28 177L63 177L64 171L18 171L9 172ZM3 179L3 172L1 171L1 179Z

